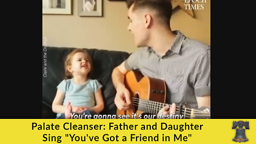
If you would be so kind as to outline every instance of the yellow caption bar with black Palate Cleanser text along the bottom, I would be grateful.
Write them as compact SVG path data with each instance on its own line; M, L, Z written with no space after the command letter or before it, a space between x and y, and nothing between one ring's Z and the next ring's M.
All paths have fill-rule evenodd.
M255 125L255 119L0 119L0 143L256 143Z

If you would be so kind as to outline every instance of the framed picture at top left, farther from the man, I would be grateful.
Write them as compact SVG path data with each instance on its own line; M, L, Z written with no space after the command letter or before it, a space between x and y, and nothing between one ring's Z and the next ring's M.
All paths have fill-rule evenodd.
M71 14L71 0L43 0L43 14Z

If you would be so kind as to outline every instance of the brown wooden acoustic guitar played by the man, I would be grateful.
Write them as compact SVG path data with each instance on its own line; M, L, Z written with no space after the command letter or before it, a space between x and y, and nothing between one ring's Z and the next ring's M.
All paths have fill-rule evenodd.
M127 110L119 110L118 115L138 115L153 114L157 115L165 103L166 85L161 79L143 76L139 71L128 71L124 78L124 84L130 91L132 105ZM183 118L210 118L210 108L189 108L186 103L176 106L175 115L183 115Z

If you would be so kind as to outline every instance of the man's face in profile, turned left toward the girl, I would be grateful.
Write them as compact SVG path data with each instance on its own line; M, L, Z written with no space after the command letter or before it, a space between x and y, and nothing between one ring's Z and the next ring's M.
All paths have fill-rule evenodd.
M135 45L137 47L147 46L148 30L145 26L145 18L141 10L132 11L133 5L128 11L128 19L130 20L127 29L134 35Z

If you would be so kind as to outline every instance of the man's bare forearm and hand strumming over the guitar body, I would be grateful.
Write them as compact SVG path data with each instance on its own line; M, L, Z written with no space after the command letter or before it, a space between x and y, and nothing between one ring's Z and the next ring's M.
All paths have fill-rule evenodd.
M118 67L114 68L112 73L112 81L116 88L115 104L120 110L126 110L131 105L130 92L124 85L124 76L127 72L123 62Z

